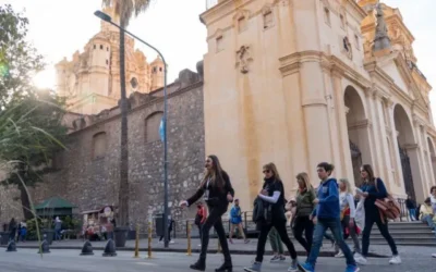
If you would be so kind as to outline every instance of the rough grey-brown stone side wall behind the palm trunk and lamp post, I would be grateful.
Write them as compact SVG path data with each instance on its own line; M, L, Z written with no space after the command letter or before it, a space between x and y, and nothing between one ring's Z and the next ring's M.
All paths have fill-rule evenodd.
M198 186L203 172L204 118L203 77L184 70L169 86L168 99L168 180L169 207L175 220L193 218L195 209L181 211L180 200ZM144 230L150 214L164 211L164 145L146 143L146 119L162 112L162 90L149 95L132 94L129 113L130 219ZM118 203L120 165L119 109L74 121L68 150L57 156L58 170L48 174L44 184L33 189L36 203L52 196L73 203L77 211ZM93 158L93 136L106 133L106 153Z

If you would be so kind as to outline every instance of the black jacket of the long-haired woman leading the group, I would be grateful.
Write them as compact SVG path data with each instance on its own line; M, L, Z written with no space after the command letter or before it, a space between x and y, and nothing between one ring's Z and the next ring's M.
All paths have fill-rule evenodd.
M209 184L209 199L206 201L208 206L228 206L229 201L227 200L227 194L230 193L232 197L234 197L234 189L231 185L229 175L222 171L222 178L223 178L223 187L220 189L217 186L213 186ZM195 203L206 191L207 183L204 186L199 187L197 191L187 199L187 206Z

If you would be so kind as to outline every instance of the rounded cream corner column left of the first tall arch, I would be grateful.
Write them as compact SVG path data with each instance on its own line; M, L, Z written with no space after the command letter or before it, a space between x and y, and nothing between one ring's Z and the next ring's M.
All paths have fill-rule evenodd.
M319 59L306 55L301 61L300 83L310 170L322 161L331 162L331 140Z

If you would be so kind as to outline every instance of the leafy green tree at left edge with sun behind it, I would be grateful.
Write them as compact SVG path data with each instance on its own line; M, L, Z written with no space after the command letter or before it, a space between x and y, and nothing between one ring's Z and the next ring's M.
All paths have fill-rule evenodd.
M44 64L26 40L27 25L27 18L11 5L0 5L0 161L9 171L2 184L17 185L24 215L31 219L25 186L43 181L53 154L63 148L66 127L62 125L64 101L32 85Z

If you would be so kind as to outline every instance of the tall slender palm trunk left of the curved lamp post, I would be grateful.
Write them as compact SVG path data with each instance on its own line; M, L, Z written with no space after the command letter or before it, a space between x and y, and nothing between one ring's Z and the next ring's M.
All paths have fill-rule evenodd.
M121 20L122 21L122 20ZM121 27L124 28L123 22ZM118 201L119 226L129 224L129 131L128 131L128 98L125 94L125 34L120 30L120 84L121 84L121 161L120 161L120 191Z

